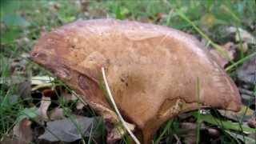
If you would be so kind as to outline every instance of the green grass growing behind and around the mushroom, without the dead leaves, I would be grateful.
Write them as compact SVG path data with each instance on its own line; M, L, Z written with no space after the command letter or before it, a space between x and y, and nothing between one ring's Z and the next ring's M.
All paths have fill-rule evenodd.
M241 27L256 35L250 30L256 22L256 4L253 0L247 1L179 1L179 0L143 0L143 1L90 1L89 14L84 14L76 2L46 1L46 0L1 0L1 53L0 53L0 134L8 135L19 114L30 107L27 101L20 98L18 83L15 78L30 79L31 75L49 75L46 70L30 62L22 54L28 53L42 31L50 31L76 19L88 18L118 18L153 22L158 25L174 27L178 30L194 34L197 38L204 38L206 46L213 46L220 50L219 45L230 41L230 37L222 33L225 26ZM160 18L158 14L164 14ZM209 21L207 21L207 19ZM233 72L243 62L256 54L255 46L249 46L247 53L241 53L239 59L231 61L226 67L228 73ZM226 55L226 54L224 54ZM228 58L228 57L226 57ZM10 69L15 60L26 60L26 73L12 74ZM54 85L65 86L62 82L53 82ZM68 89L68 87L66 87ZM256 88L255 88L256 89ZM256 94L256 90L254 90ZM14 101L14 98L18 98ZM29 101L29 100L28 100ZM59 106L71 110L71 106L58 101ZM70 112L66 112L72 118ZM88 108L88 115L96 115ZM201 117L200 117L201 118ZM200 118L197 118L198 121ZM179 119L174 118L166 122L158 133L154 135L154 143L175 142L174 134L178 135ZM231 123L232 125L232 123ZM239 123L241 126L241 123ZM226 134L220 123L214 123L222 129L222 138L233 142L230 134ZM224 126L225 127L225 126ZM200 130L198 129L198 133ZM106 138L106 131L102 127L102 139ZM198 136L198 142L199 142ZM0 139L1 141L2 139ZM86 143L91 139L84 140ZM129 138L123 138L120 143L129 143Z

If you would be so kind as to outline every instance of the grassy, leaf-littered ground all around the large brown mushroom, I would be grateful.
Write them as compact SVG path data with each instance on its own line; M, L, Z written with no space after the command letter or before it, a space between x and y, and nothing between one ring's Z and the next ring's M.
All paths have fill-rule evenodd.
M219 61L238 86L242 110L178 115L154 134L152 142L255 143L254 0L0 2L0 143L106 143L102 118L29 57L41 34L78 19L94 18L170 26L193 34L211 53L222 57L215 50L221 48L230 57ZM130 138L125 135L117 143L130 143Z

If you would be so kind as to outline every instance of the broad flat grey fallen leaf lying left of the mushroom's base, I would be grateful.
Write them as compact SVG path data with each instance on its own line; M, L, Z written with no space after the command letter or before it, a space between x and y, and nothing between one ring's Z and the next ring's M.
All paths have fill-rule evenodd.
M39 136L39 139L45 139L50 142L74 142L81 139L82 136L89 137L90 130L94 123L94 118L79 117L75 119L64 118L53 122L47 122L45 133Z

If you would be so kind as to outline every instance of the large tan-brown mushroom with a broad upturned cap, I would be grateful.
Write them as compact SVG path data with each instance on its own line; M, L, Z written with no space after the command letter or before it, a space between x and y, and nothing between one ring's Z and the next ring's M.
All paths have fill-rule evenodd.
M42 35L30 56L82 95L111 132L118 118L102 90L104 67L118 110L143 143L168 119L198 106L241 105L234 82L200 42L166 26L77 21Z

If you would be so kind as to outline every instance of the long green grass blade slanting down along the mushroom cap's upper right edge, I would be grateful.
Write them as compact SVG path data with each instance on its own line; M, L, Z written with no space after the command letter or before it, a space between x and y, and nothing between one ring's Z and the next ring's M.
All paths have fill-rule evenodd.
M202 38L205 38L207 40L207 43L209 42L211 46L213 46L216 50L218 50L218 53L221 54L224 58L226 58L229 62L234 63L234 61L230 58L230 56L226 53L226 51L222 50L221 46L218 46L218 44L216 44L215 42L213 42L206 34L204 34L202 32L202 30L200 30L198 28L198 26L196 26L194 24L194 22L192 22L189 18L186 17L185 14L182 13L181 10L176 10L177 14L184 19L186 22L190 23L190 25L194 28L194 30L196 30L201 36Z

